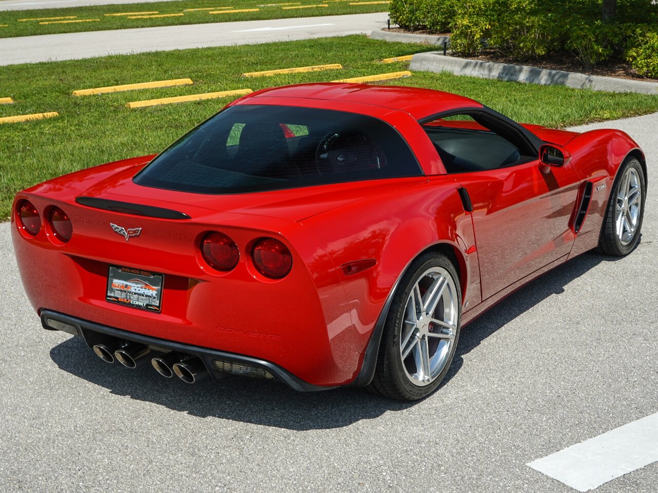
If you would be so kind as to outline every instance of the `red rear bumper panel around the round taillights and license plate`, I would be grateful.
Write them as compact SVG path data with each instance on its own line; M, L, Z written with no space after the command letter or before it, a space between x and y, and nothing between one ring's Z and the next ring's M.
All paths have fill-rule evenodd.
M216 273L205 267L199 254L201 235L216 230L214 223L169 223L143 216L138 223L127 223L121 218L122 223L149 228L148 237L127 242L109 227L117 220L112 214L118 213L34 194L20 193L16 200L21 198L35 204L41 218L48 216L49 207L61 206L76 225L68 243L55 245L46 222L35 237L27 237L12 216L20 277L38 312L49 310L157 340L249 356L285 368L313 386L347 385L357 377L363 346L355 340L357 328L340 272L303 227L226 213L222 224L228 225L220 229L241 245L240 262L228 273ZM286 234L265 229L262 223ZM298 245L290 247L295 267L277 281L259 277L250 263L251 242L270 235ZM110 265L163 274L161 312L108 302Z

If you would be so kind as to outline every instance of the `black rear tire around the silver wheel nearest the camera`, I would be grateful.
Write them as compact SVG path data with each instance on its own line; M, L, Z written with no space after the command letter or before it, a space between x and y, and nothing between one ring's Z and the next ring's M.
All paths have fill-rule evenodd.
M424 279L423 273L432 269L440 268L447 275L451 277L453 287L455 290L453 299L456 298L456 307L454 307L454 317L456 330L451 331L454 335L453 344L448 346L447 360L443 360L443 369L434 377L430 383L424 385L417 385L413 383L413 378L407 374L405 370L405 362L403 362L400 348L400 338L403 331L403 321L407 314L407 302L411 291L415 287L418 279ZM444 302L440 302L440 306L444 306ZM438 308L437 310L440 310ZM367 390L373 394L396 399L413 401L422 399L434 392L439 387L445 374L447 373L453 358L455 357L455 349L457 348L457 341L459 340L459 327L461 322L461 288L459 286L459 276L452 262L443 254L435 252L428 252L420 255L401 279L386 317L384 324L384 333L382 333L382 341L380 343L379 354L377 356L377 364L375 369L374 378L372 383L368 385ZM408 327L408 326L407 326ZM432 325L430 331L436 331L436 327ZM446 330L446 329L444 329ZM413 337L409 340L413 340ZM422 340L422 339L420 339ZM436 341L436 339L431 339ZM427 337L427 344L430 344L430 339ZM434 344L434 342L432 342ZM436 342L439 344L439 342ZM419 349L420 350L420 346ZM438 352L438 349L435 350ZM410 354L411 356L411 354ZM430 356L431 358L432 356ZM414 356L415 358L415 356ZM409 361L407 360L407 364ZM431 375L431 371L430 371Z

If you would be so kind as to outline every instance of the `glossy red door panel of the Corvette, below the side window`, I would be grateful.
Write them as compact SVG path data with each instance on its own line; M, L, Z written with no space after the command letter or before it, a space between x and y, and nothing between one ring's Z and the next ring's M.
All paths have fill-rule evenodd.
M580 179L567 164L549 174L532 161L453 175L468 190L481 259L482 298L569 254L569 218Z

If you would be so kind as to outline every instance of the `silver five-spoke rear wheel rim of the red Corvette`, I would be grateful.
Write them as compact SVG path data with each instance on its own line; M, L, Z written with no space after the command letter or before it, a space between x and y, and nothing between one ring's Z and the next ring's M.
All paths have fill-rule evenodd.
M442 267L426 270L413 285L400 331L400 356L414 385L429 385L445 368L457 335L458 300L455 281Z

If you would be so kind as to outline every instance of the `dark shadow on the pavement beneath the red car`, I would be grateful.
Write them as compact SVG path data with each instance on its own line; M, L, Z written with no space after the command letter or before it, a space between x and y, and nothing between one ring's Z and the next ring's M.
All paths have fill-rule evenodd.
M617 258L590 253L581 255L549 271L470 323L461 333L455 360L442 386L457 375L463 365L463 355L497 329L551 294L563 293L567 283L600 262L614 260ZM220 417L293 430L330 429L413 406L413 403L379 398L355 388L298 393L277 383L241 377L220 381L207 379L188 385L176 377L161 377L149 362L136 370L104 363L79 337L55 346L50 354L53 362L64 371L108 388L113 394L153 402L199 417Z

